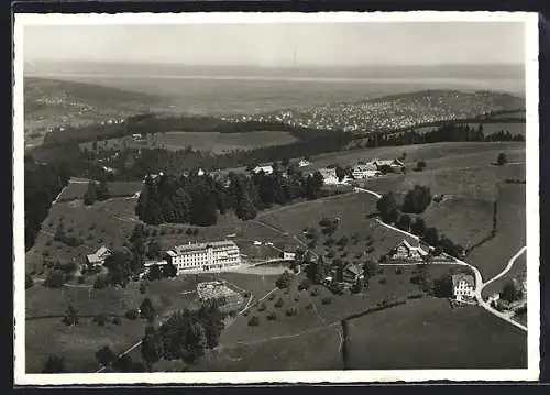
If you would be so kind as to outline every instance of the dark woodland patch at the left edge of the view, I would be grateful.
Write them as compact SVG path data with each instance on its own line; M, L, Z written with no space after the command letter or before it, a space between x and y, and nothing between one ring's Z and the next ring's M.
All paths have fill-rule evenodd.
M25 251L33 246L52 202L69 178L66 166L42 165L25 157Z

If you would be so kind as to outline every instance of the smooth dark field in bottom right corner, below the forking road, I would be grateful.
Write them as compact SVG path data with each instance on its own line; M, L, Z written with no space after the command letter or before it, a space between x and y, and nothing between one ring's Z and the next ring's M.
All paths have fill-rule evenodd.
M527 336L480 307L418 299L349 322L348 369L525 369Z

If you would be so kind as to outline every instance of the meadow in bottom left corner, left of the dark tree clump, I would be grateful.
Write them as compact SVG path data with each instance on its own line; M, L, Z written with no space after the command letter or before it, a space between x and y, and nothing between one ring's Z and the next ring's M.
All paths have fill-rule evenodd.
M26 371L40 373L47 356L64 356L69 372L94 372L99 366L96 351L110 345L114 352L122 352L139 341L147 325L141 319L128 320L122 317L128 309L139 308L145 297L150 297L158 317L194 305L191 296L182 292L195 289L195 278L178 277L150 283L145 294L139 290L139 283L130 283L127 288L64 287L48 289L35 284L26 290ZM63 315L72 305L80 318L74 327L62 322ZM99 314L121 317L120 325L111 322L100 327L92 322Z

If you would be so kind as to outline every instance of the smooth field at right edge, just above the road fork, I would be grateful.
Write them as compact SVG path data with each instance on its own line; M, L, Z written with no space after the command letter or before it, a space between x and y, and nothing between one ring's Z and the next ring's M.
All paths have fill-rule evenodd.
M468 262L476 266L486 281L504 270L508 260L526 243L526 206L524 184L498 187L496 237L474 249Z

